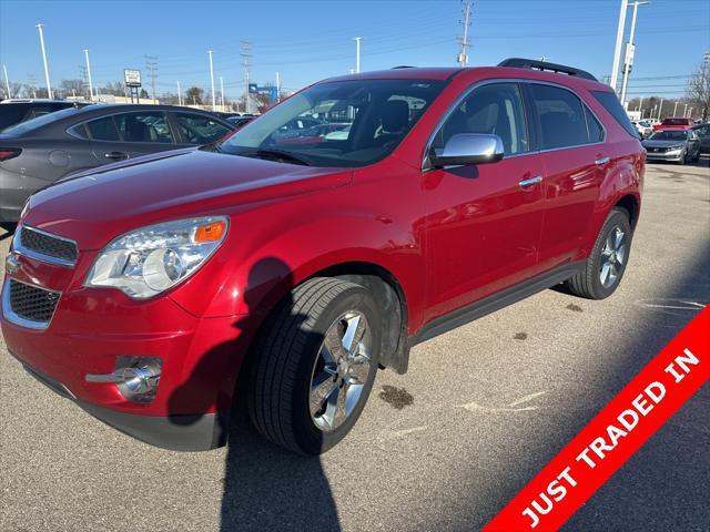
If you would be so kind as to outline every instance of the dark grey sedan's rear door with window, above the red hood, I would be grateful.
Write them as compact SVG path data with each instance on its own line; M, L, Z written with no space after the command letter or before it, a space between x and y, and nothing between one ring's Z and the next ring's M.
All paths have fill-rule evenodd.
M100 164L174 150L175 135L163 111L118 113L87 123Z

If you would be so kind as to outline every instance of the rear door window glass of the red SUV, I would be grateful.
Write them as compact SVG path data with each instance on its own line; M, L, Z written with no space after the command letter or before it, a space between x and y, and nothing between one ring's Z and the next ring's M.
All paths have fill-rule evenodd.
M531 84L534 110L540 124L540 147L588 144L587 120L579 98L571 92L550 85Z

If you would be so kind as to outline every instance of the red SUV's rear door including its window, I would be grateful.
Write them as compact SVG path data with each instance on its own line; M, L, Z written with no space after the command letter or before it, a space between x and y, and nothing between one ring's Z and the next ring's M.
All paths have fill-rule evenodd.
M572 91L530 82L526 93L545 164L538 260L547 270L570 262L582 245L610 154L599 120Z

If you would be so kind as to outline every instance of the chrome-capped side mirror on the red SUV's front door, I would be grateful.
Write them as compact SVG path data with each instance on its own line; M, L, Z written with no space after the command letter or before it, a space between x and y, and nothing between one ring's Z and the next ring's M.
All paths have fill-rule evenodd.
M457 133L444 149L429 154L435 167L495 163L504 155L503 141L498 135L485 133Z

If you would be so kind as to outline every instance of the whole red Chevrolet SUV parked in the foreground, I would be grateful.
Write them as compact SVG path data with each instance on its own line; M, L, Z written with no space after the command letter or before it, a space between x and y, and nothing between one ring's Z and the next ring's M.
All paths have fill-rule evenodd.
M298 117L349 126L298 144ZM643 168L616 95L577 69L329 79L221 144L31 196L2 331L33 376L143 441L220 446L244 403L273 442L320 453L415 344L559 283L612 294Z

